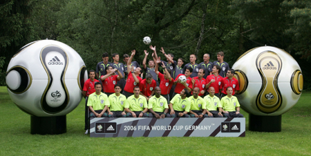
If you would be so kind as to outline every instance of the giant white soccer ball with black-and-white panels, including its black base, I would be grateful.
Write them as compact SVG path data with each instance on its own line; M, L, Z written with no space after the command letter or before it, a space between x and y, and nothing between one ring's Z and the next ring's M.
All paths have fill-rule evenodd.
M32 134L66 133L66 114L82 99L86 66L66 44L41 40L10 60L6 84L12 101L31 115Z

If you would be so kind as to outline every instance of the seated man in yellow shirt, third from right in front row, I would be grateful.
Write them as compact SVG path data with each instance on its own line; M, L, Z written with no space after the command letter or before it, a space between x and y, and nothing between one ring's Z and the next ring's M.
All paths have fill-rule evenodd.
M209 117L206 115L206 103L202 97L198 96L199 88L194 88L194 95L189 97L191 106L190 106L190 117Z

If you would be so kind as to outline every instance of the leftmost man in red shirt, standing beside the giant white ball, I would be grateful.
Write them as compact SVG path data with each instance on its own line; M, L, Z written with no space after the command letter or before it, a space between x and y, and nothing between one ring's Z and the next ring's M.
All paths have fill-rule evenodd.
M84 82L82 95L85 98L85 114L84 114L84 130L86 130L85 134L88 134L88 95L91 95L93 92L95 92L95 82L100 82L97 79L95 79L95 70L90 70L88 72L88 77L90 79L87 79Z

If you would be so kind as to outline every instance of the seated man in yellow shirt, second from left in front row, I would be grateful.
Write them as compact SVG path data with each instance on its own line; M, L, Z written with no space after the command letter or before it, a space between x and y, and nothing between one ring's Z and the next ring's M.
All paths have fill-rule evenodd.
M121 85L115 84L115 93L110 95L108 117L126 117L124 106L126 104L126 97L121 93Z

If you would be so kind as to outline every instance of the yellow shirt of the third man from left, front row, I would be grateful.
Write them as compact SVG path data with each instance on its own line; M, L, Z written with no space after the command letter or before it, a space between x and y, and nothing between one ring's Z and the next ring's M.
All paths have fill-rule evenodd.
M135 95L127 98L124 108L129 108L132 111L142 111L148 108L147 99L143 96L135 98Z

